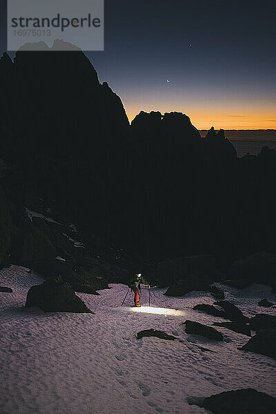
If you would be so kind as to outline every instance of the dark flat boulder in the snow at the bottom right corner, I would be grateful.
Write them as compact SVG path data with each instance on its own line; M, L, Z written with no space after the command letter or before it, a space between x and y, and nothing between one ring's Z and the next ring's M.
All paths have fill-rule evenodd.
M276 398L253 388L226 391L205 398L202 406L213 414L273 414Z

